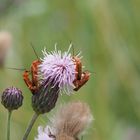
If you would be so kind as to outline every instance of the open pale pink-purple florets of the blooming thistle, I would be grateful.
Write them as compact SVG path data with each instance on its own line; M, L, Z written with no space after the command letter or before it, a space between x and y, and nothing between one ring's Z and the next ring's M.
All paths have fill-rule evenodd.
M70 45L71 47L71 45ZM43 51L44 58L39 66L40 75L48 83L54 82L58 85L60 91L70 94L73 89L75 80L75 64L72 56L67 52L62 53L60 50L47 52Z

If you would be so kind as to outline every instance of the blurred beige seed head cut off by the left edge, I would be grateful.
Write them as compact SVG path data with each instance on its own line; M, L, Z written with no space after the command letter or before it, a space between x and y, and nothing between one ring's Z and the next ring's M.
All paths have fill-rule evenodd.
M3 65L5 56L11 47L12 37L9 32L0 32L0 66Z

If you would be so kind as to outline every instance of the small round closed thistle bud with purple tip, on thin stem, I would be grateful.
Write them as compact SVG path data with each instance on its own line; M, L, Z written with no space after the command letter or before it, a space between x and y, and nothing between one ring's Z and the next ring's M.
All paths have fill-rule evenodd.
M9 111L18 109L22 105L22 100L22 91L16 87L6 88L1 96L1 103Z

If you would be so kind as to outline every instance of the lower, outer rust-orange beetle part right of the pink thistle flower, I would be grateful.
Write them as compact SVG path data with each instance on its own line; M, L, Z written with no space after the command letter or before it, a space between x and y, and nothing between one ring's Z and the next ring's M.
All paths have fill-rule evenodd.
M88 80L89 80L90 73L88 71L85 71L81 75L80 80L74 80L73 84L75 86L74 90L78 91Z

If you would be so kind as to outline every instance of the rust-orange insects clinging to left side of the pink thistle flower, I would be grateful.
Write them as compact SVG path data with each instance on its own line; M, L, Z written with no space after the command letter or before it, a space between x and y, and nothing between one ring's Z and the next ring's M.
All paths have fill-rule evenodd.
M35 53L35 55L38 58L38 55L33 47L33 45L31 44L31 47ZM32 92L32 94L37 93L37 91L39 90L39 80L38 80L38 65L41 64L41 60L34 60L31 64L31 70L27 71L25 70L23 73L23 79L27 85L27 87L30 89L30 91ZM29 75L31 74L31 79L29 77Z

